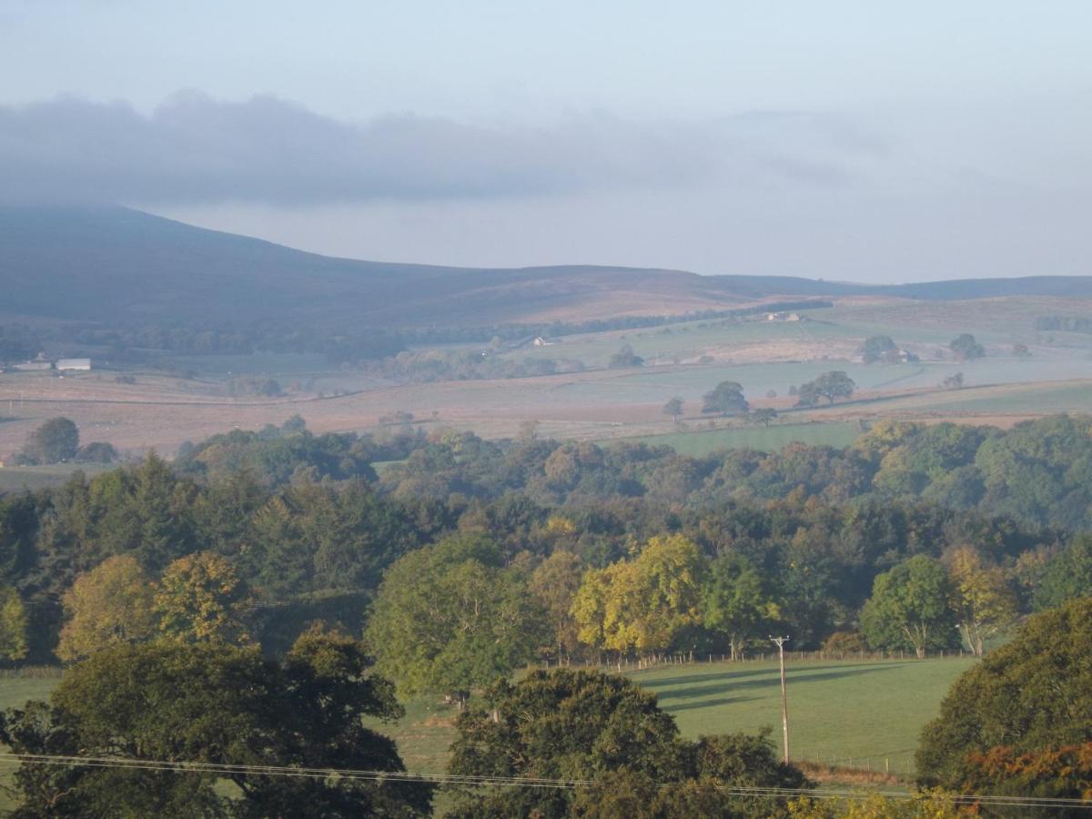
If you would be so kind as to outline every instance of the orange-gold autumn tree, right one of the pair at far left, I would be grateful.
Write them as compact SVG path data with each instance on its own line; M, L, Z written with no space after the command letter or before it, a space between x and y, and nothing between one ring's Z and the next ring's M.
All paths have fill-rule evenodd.
M250 591L219 555L199 551L175 560L155 591L164 636L182 642L250 641L245 617Z

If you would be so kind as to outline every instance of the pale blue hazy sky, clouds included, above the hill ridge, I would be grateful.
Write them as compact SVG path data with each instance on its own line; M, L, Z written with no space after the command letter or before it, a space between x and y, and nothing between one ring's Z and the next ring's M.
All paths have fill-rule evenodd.
M0 201L317 252L1092 274L1092 3L0 0Z

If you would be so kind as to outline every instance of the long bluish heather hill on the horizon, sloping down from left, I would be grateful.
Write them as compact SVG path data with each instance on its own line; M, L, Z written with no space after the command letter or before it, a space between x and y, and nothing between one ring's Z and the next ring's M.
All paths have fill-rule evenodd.
M678 314L794 296L1092 296L1092 277L868 286L634 268L444 268L323 257L123 207L8 207L0 293L7 319L390 328Z

